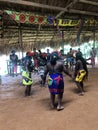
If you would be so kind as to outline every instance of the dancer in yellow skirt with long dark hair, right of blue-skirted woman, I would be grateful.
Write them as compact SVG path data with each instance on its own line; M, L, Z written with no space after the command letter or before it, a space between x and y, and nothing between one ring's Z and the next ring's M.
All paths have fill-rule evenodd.
M79 88L79 95L84 95L84 79L88 78L88 68L86 60L82 55L76 55L76 64L74 71L74 80Z

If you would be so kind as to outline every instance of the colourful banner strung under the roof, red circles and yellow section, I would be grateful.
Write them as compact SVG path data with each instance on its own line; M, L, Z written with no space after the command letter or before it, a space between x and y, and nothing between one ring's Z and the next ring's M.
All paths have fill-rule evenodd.
M27 24L46 24L59 27L77 27L80 23L80 19L58 19L54 20L54 16L40 16L37 14L27 13L27 12L16 12L11 10L5 10L12 20L15 20L17 23L27 23ZM97 19L85 19L84 26L97 26Z

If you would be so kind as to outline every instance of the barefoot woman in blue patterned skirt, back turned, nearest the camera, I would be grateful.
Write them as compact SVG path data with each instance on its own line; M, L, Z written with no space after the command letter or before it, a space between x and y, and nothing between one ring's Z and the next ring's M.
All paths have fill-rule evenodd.
M62 110L64 107L62 106L62 98L64 93L64 80L62 72L71 76L69 72L64 67L64 64L58 60L57 53L52 53L50 57L50 62L47 63L45 67L44 73L44 84L46 82L46 76L48 77L48 88L51 96L51 107L55 108L55 95L58 95L58 105L57 110Z

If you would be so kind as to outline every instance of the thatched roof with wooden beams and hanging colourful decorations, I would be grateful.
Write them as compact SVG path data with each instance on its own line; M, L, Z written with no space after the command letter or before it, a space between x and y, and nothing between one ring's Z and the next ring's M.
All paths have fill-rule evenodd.
M1 53L98 39L98 0L0 0L0 9Z

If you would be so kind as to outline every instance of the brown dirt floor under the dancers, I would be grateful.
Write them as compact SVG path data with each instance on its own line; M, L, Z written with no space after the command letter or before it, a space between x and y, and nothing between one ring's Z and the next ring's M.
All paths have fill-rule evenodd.
M79 96L75 83L64 76L62 111L51 109L48 88L39 86L37 75L30 97L24 97L21 75L2 77L0 130L98 130L97 77L98 68L89 68L85 95Z

